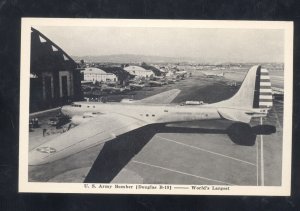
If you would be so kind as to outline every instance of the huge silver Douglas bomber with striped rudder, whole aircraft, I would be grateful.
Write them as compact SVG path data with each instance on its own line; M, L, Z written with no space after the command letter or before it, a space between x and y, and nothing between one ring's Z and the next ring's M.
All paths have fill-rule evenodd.
M179 92L174 89L130 103L75 102L63 106L62 113L78 126L31 150L29 165L59 160L150 124L218 119L245 124L253 117L265 117L272 107L270 77L260 66L248 71L233 97L218 103L170 104Z

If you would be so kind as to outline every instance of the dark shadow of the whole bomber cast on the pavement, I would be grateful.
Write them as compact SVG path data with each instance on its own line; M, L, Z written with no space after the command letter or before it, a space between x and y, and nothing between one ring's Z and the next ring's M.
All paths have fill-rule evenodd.
M271 125L251 127L239 122L231 124L227 129L167 127L161 124L145 126L106 142L84 182L111 182L156 133L227 134L235 144L253 146L256 135L269 135L275 132L276 128Z

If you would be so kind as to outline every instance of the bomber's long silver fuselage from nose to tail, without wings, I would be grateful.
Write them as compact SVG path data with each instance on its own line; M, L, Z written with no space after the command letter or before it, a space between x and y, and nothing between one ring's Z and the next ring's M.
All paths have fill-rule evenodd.
M159 105L128 103L78 103L64 106L62 112L70 117L86 113L116 113L142 120L148 124L193 120L220 119L216 108L198 105Z

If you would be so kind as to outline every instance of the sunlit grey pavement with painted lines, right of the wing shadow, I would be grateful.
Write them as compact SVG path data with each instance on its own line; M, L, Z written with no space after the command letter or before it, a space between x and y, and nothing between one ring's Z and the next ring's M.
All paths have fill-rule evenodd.
M224 134L156 134L113 182L137 183L142 178L150 184L280 185L282 119L275 111L271 115L264 121L279 130L258 135L255 146L236 145Z

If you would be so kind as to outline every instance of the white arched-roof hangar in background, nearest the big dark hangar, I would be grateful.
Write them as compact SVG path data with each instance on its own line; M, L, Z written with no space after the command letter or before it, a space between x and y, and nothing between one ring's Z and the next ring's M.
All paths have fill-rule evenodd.
M118 78L113 73L107 73L104 70L101 70L96 67L87 67L83 71L83 80L84 81L98 81L98 82L106 82L106 81L117 81Z

